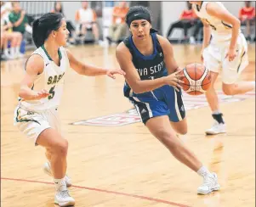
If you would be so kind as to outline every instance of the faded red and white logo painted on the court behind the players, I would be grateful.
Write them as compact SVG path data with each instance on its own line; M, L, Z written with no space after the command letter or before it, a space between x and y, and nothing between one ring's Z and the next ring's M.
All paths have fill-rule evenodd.
M246 94L236 95L236 96L227 96L223 92L218 92L219 103L232 103L240 102L247 98L255 97L255 92L247 92ZM202 107L207 107L208 102L205 98L205 95L191 96L183 92L183 101L185 105L185 110L199 109ZM89 120L80 120L71 125L84 125L84 126L124 126L128 124L133 124L140 122L139 115L137 114L136 109L128 109L123 113L105 115Z

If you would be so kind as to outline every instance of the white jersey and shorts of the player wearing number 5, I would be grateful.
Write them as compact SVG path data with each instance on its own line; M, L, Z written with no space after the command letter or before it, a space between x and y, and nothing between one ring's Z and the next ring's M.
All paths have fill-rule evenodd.
M32 101L19 101L14 110L14 126L37 142L37 137L47 128L54 128L60 131L60 120L57 113L60 98L64 87L65 70L70 67L69 59L65 48L59 48L60 66L54 63L49 57L44 46L37 48L32 53L43 58L43 73L37 76L32 90L40 91L46 89L50 95L48 98Z

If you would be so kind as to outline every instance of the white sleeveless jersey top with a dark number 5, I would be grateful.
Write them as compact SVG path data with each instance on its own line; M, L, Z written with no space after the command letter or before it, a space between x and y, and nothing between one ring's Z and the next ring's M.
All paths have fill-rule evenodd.
M40 91L46 89L50 95L48 98L40 100L26 100L19 98L21 108L31 111L42 111L45 109L57 108L60 104L60 98L63 92L65 70L70 67L69 59L65 48L58 50L60 57L60 66L54 63L45 50L44 46L37 48L32 54L38 54L43 58L43 73L39 74L34 81L32 90Z

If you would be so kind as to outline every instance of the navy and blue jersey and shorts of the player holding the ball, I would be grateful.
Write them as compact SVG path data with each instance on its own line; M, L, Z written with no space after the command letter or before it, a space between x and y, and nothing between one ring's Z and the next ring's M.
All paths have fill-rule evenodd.
M151 33L151 36L154 52L148 56L139 52L134 45L132 36L123 41L132 54L133 64L142 81L168 76L162 47L158 42L156 33ZM124 96L134 104L144 124L147 120L161 115L168 115L169 120L173 122L178 122L185 118L181 91L176 92L174 87L165 85L151 92L134 93L128 83L125 82L123 92Z

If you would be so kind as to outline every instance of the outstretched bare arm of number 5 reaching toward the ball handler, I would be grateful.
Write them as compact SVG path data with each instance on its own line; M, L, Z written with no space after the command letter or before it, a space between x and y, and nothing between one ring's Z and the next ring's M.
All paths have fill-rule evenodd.
M75 70L78 74L83 76L109 76L113 79L116 77L115 74L125 75L124 71L117 69L117 70L107 70L105 68L96 67L94 65L83 64L82 62L78 61L69 50L66 50L68 55L68 59L71 64L71 68Z

